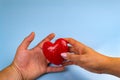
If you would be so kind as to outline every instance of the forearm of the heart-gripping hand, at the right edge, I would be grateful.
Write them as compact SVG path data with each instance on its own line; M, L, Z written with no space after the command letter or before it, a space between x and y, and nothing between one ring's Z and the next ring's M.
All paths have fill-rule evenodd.
M106 63L104 73L120 77L120 58L110 57Z

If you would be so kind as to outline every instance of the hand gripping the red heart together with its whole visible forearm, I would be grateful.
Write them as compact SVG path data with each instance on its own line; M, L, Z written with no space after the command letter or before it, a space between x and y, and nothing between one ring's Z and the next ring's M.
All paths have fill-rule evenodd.
M70 52L61 54L63 58L69 61L63 65L74 64L91 72L120 77L120 58L102 55L72 38L65 38L65 40L71 46L69 47Z

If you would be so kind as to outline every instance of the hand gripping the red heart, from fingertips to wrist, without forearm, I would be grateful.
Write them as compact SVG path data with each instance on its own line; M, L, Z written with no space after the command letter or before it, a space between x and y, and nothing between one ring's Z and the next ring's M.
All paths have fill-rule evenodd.
M104 73L110 63L110 57L102 55L72 38L65 38L65 40L71 46L69 47L70 52L62 53L61 55L69 60L69 62L65 62L63 65L75 64L91 72Z

